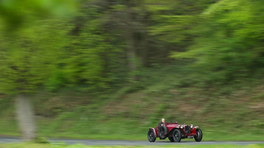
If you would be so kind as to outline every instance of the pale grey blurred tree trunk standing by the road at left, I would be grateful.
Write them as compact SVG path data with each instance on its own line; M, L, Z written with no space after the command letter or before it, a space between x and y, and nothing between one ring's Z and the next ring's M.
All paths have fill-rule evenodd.
M22 132L23 140L36 138L36 120L33 107L26 94L17 94L16 98L17 120Z

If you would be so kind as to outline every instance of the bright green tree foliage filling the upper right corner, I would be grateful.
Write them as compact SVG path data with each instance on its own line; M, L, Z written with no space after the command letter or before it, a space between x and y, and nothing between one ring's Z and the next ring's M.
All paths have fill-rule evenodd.
M195 58L208 83L222 85L251 76L263 65L262 1L219 1L201 14L196 44L173 58ZM256 15L258 14L258 16ZM217 81L217 82L214 82Z

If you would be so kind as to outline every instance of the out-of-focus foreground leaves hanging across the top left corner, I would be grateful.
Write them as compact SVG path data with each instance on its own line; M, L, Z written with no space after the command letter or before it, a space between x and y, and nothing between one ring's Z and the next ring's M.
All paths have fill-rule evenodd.
M75 13L76 1L66 0L3 0L0 1L0 20L8 32L17 31L21 26L29 26L47 16L65 17Z

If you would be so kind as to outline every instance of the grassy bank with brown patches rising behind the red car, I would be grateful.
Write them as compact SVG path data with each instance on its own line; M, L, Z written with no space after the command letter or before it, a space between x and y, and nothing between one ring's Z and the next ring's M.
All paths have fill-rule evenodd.
M36 92L32 100L38 135L147 140L148 128L157 126L164 117L166 122L201 126L203 140L264 140L263 79L259 83L243 81L208 88L189 85L192 77L182 77L185 73L177 70L167 67L160 72L148 71L140 83L108 92L77 88ZM12 97L0 101L0 126L4 127L0 135L20 135Z

